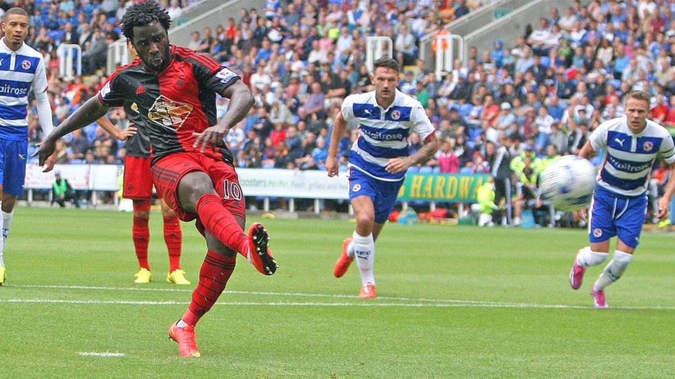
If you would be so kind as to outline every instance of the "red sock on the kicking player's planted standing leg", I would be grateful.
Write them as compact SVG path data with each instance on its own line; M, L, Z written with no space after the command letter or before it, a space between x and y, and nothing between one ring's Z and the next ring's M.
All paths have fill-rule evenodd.
M192 292L192 301L183 314L187 325L195 325L199 319L214 306L218 296L225 290L227 280L234 271L237 256L226 257L209 250L202 268L199 270L199 283Z

